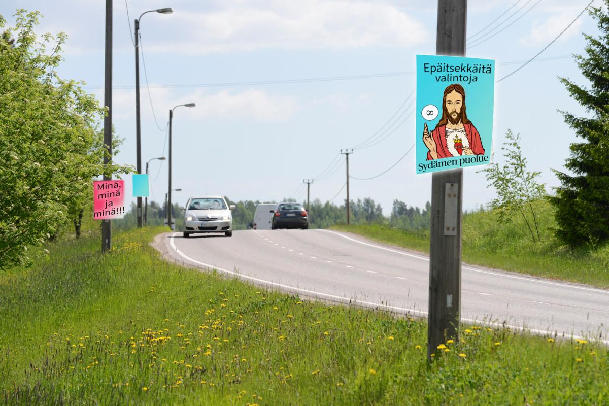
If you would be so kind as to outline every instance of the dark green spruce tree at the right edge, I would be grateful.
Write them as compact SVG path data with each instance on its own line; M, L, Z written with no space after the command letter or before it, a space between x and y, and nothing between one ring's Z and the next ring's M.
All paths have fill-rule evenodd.
M585 55L576 56L590 88L560 78L590 117L561 111L582 141L569 147L565 168L572 175L554 170L561 186L550 200L556 208L556 236L571 247L609 239L609 15L601 7L591 8L590 15L597 21L599 36L584 34Z

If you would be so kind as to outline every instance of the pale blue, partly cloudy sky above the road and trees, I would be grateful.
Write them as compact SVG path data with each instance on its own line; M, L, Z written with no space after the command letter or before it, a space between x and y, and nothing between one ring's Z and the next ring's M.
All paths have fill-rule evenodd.
M495 59L500 79L554 40L587 3L470 0L466 55ZM43 14L39 33L68 33L60 75L83 80L103 102L105 2L4 0L0 14L9 26L18 7ZM183 189L174 201L201 194L302 201L303 179L315 178L311 198L339 204L345 197L344 189L337 195L345 183L340 149L362 145L350 156L350 173L367 178L415 142L415 55L435 54L435 2L114 0L113 7L113 124L125 139L115 160L134 166L133 19L174 9L143 16L140 58L143 168L148 159L167 156L169 109L197 104L174 112L172 184ZM583 32L597 33L587 13L539 61L495 87L496 158L503 161L505 131L520 133L530 169L549 187L558 184L551 169L561 169L576 141L558 110L586 113L558 81L585 84L571 57L583 52ZM466 209L494 197L476 170L463 171ZM154 200L162 201L167 161L152 161L150 178ZM431 175L415 175L411 153L381 177L352 179L350 192L381 203L385 214L395 198L421 207L431 200Z

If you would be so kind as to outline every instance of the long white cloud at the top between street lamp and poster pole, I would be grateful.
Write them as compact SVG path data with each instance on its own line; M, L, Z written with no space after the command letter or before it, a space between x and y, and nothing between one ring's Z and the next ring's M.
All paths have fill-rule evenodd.
M208 54L270 48L413 46L429 36L424 24L394 5L346 0L233 1L224 9L206 12L176 10L167 24L171 28L162 42L149 41L155 44L149 46L151 51Z

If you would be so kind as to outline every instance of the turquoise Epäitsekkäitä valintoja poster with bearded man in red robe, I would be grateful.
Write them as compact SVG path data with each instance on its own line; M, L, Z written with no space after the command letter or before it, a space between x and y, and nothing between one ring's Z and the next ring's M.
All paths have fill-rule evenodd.
M495 61L417 55L417 173L487 165Z

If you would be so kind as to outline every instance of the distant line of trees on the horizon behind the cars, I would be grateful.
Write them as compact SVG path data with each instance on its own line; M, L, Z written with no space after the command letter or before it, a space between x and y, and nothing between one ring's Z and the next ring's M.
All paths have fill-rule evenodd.
M275 201L259 201L259 200L239 200L233 201L226 197L229 205L235 205L233 210L233 229L247 229L248 225L254 221L254 213L256 206L259 203L276 203ZM334 205L326 201L315 199L311 201L309 208L309 226L311 228L328 228L335 224L347 223L346 202L342 205ZM306 202L303 202L306 206ZM381 205L366 197L363 200L351 200L350 203L351 215L350 222L354 224L361 223L383 223L395 228L417 230L429 228L431 219L431 204L427 202L423 209L418 207L408 206L404 201L393 200L393 208L389 216L382 214ZM144 209L144 208L143 208ZM125 214L124 219L114 220L112 223L116 228L132 228L137 224L136 216L137 207L132 203L130 211ZM172 218L175 219L176 230L180 231L183 225L183 211L178 203L172 205ZM156 201L148 202L147 209L147 225L156 226L163 225L167 219L165 205L160 205Z

